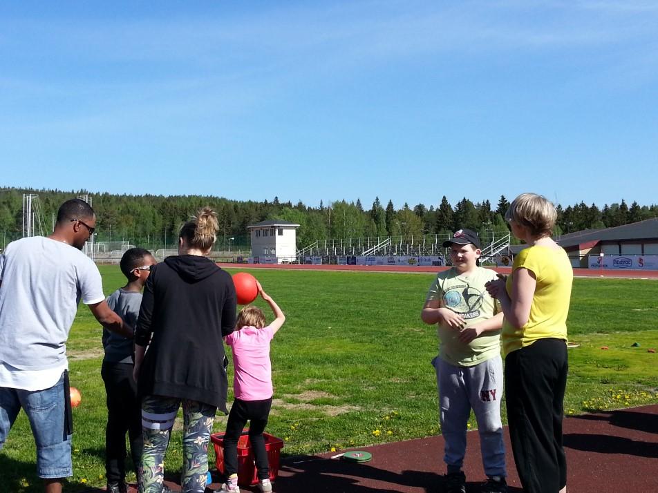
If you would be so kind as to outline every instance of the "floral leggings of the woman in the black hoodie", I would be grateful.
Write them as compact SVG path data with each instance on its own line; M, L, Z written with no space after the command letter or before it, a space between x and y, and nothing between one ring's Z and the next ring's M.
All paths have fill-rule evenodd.
M180 484L186 493L203 493L208 472L208 442L217 408L196 400L147 396L142 400L144 448L140 465L140 493L161 493L164 453L178 407L183 411L183 465Z

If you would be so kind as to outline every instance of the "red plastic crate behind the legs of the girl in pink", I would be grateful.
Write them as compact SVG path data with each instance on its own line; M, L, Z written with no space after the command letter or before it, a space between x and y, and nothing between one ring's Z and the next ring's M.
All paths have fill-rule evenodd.
M270 481L274 481L276 476L279 476L279 456L283 448L283 440L265 432L263 432L263 438L265 438L267 460L270 461ZM210 439L215 447L215 454L217 456L215 465L217 470L225 474L224 434L212 434L210 435ZM258 482L259 477L256 464L254 463L254 452L252 452L252 444L249 441L247 430L245 430L242 436L238 438L238 485L251 486L258 484Z

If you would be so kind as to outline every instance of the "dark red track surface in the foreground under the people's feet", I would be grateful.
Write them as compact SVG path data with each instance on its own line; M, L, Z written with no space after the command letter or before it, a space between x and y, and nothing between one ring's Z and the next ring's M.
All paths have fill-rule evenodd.
M520 483L507 443L508 483L511 493L520 493ZM566 418L564 441L567 452L567 490L570 493L658 492L658 405L634 407ZM440 492L443 438L433 436L374 447L359 447L373 454L368 463L332 459L337 452L285 458L275 493L434 493ZM342 451L341 451L342 452ZM464 463L467 492L479 492L485 480L480 462L478 432L468 433ZM215 475L206 492L220 487ZM180 487L167 481L173 491ZM256 487L241 488L257 492ZM100 490L90 490L98 492ZM131 488L131 492L135 490Z

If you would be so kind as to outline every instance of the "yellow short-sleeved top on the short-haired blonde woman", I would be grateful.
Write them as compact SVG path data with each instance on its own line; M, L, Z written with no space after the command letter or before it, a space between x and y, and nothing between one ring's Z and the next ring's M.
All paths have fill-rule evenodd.
M567 253L563 249L540 245L520 251L514 258L512 275L507 277L506 288L510 296L512 276L520 268L532 271L537 284L527 323L516 329L507 320L502 322L500 340L505 356L539 339L567 340L567 315L574 280L574 269Z

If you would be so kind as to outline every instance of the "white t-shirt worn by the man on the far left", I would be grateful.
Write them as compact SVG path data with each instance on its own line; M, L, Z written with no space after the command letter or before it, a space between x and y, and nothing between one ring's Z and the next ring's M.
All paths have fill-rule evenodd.
M61 376L79 301L105 299L98 268L75 247L35 236L8 244L0 255L0 280L0 386L6 386L8 369Z

